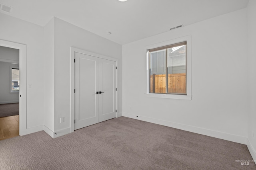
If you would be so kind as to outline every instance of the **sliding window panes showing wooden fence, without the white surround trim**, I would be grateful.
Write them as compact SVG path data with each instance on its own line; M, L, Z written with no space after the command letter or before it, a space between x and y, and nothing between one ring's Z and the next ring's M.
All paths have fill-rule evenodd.
M186 94L186 44L149 50L150 93Z

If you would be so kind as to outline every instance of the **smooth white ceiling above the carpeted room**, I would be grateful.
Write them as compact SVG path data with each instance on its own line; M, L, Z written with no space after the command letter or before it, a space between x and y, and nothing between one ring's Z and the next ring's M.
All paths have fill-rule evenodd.
M4 14L41 26L60 18L119 44L246 8L249 0L0 0ZM106 35L110 31L111 35Z

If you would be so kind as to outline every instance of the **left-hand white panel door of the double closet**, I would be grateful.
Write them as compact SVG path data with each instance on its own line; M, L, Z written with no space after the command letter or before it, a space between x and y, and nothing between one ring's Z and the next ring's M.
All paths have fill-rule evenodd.
M74 129L98 123L99 59L75 53Z

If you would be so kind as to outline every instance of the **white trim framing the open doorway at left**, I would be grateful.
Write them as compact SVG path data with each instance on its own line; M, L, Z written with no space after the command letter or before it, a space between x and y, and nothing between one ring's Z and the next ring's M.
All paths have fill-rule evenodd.
M0 46L2 47L9 47L13 49L19 50L19 66L20 66L20 92L19 92L19 100L20 100L20 110L19 110L19 117L20 117L20 136L26 135L27 129L27 69L26 69L26 45L20 43L14 43L11 41L5 41L0 39ZM0 61L6 61L4 59L0 59Z

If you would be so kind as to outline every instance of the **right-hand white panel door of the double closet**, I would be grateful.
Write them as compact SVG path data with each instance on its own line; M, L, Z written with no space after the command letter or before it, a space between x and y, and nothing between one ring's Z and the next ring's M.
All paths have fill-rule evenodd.
M99 122L116 117L116 62L99 59Z

